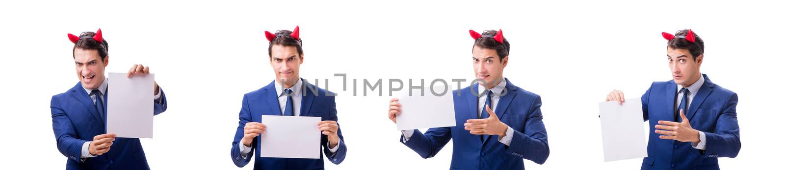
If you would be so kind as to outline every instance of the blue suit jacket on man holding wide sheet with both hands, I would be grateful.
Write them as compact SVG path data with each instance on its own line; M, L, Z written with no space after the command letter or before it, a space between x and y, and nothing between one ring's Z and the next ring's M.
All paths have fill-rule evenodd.
M276 82L272 81L269 85L261 87L259 90L251 91L243 96L243 108L240 110L239 125L235 133L235 140L232 141L232 161L238 167L243 167L250 162L252 157L256 157L254 161L254 169L323 169L323 157L327 156L334 164L338 165L346 157L346 143L344 142L341 128L338 128L338 138L341 139L338 151L330 156L330 150L327 146L327 135L321 136L321 143L324 155L319 155L319 159L304 159L304 158L260 158L254 154L248 154L246 158L240 155L240 150L237 143L243 139L243 128L247 122L261 122L261 115L281 115L281 108L278 104L278 94L276 94ZM314 116L322 117L322 121L332 120L338 122L338 111L335 109L335 97L327 96L327 90L316 87L308 82L303 81L303 95L300 116ZM315 93L316 92L316 93ZM255 155L259 155L257 150L257 143L259 140L257 136L251 143L251 151Z

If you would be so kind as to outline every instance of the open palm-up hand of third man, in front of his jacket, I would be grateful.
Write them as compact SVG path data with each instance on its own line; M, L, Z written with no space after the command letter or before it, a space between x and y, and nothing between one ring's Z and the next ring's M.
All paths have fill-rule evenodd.
M485 110L488 112L487 119L466 120L466 123L463 124L463 129L469 130L469 133L475 135L498 135L498 137L506 136L508 126L504 124L504 122L498 120L496 113L491 110L491 107L485 105Z

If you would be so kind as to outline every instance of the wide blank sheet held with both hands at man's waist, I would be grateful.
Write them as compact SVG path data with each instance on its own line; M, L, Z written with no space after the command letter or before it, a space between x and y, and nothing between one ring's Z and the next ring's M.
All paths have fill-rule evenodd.
M321 151L321 117L261 115L267 131L259 140L259 156L318 159Z

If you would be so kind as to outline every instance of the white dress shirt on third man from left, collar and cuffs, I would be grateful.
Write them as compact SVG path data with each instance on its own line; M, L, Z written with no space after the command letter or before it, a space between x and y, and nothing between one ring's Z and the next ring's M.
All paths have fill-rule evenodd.
M492 106L491 110L493 110L493 112L496 112L496 108L497 108L496 104L498 104L498 100L499 98L501 98L502 91L505 90L506 86L507 86L507 80L502 80L496 86L491 88L491 92L493 92L493 94L491 94L491 106ZM477 118L479 118L480 115L482 115L483 111L485 110L485 101L487 100L487 95L482 95L484 94L482 93L484 91L485 91L484 86L477 86L477 92L480 93L479 97L477 97L477 101L478 101ZM498 138L498 142L504 143L505 145L509 146L509 143L513 141L513 134L515 132L514 130L515 129L513 129L512 127L507 126L506 136L502 138ZM406 143L409 140L409 138L411 138L411 136L414 134L414 130L411 129L403 130L402 133L403 133L403 143Z

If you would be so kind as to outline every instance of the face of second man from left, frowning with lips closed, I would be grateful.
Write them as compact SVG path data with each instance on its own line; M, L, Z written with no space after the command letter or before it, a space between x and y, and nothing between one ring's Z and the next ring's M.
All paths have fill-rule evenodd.
M272 71L276 72L276 81L281 83L283 87L294 86L294 83L300 79L300 65L303 62L303 56L298 53L296 47L292 46L273 44L270 51L270 66L272 66ZM281 79L284 82L281 82Z

